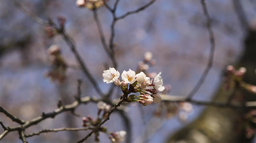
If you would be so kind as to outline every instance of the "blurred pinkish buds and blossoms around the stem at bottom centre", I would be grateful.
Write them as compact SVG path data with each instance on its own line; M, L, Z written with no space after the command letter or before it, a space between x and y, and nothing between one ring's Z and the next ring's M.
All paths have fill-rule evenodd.
M107 117L109 110L111 109L110 105L99 101L97 104L98 107L98 116L96 119L92 118L91 116L83 117L82 126L84 127L91 127L95 128L98 124L101 123L101 121ZM99 130L97 130L94 133L94 141L99 142L99 132L105 133L110 141L112 143L119 143L123 142L125 139L126 131L118 131L118 132L109 132L107 127L100 127Z

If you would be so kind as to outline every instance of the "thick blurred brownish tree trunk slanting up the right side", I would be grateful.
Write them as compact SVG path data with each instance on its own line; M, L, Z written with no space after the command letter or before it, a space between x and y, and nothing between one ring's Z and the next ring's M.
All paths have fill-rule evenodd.
M244 76L244 81L255 85L255 30L248 30L248 35L245 38L244 53L241 58L235 63L235 67L245 67L247 72ZM226 103L232 94L231 91L223 88L223 83L217 89L213 101ZM244 90L242 93L246 101L255 101L255 95L252 95ZM251 109L255 109L252 107ZM246 138L245 130L242 130L242 116L250 109L231 109L207 107L205 111L188 126L177 131L167 142L250 142Z

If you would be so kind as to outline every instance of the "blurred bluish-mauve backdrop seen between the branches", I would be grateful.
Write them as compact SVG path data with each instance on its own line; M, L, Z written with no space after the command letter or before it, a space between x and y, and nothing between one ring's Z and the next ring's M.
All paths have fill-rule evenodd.
M135 10L147 2L148 0L120 0L117 16ZM246 26L241 24L233 0L206 0L212 18L216 49L213 67L193 99L211 101L223 82L223 71L226 66L237 65L241 59L244 59L242 57L246 51L246 38L256 28L256 1L236 2L239 2L240 8L244 11ZM110 84L102 81L102 73L112 66L112 63L101 45L92 11L77 7L75 0L20 0L19 3L43 19L52 18L57 21L58 16L66 17L67 33L75 40L77 50L93 77L97 79L102 91L107 93ZM108 4L113 6L114 0L109 0ZM98 14L104 34L109 39L112 15L105 7L100 7ZM52 44L57 44L61 48L62 56L68 64L77 65L77 63L63 38L59 35L48 38L44 28L15 7L12 0L0 0L0 104L23 120L31 120L42 112L53 111L57 108L60 98L63 99L64 104L74 102L77 79L83 80L82 97L99 97L88 78L80 70L68 68L67 79L63 83L52 82L46 77L46 73L51 68L47 49ZM139 61L143 60L144 53L150 51L153 59L156 60L156 65L150 67L148 72L162 71L164 85L168 87L166 94L188 95L207 65L210 42L206 18L199 0L157 0L146 10L119 20L115 30L118 71L122 72L129 68L136 70ZM255 43L255 38L252 42ZM255 63L255 47L253 48L254 50L249 52L253 57L248 56L248 59L254 60L252 62ZM241 66L246 65L240 64L239 67ZM251 68L247 68L247 71L251 70L250 72L254 74L249 79L255 84L255 64L249 67ZM112 98L119 98L121 94L121 90L116 88ZM154 111L159 105L149 105L142 109L141 104L129 105L127 113L132 123L132 142L142 142L142 140L152 143L169 142L168 139L172 135L197 120L207 108L193 105L193 112L183 118L181 115L172 118L155 117ZM26 133L44 128L81 127L83 116L97 117L97 106L94 103L81 105L76 113L81 117L75 117L69 112L63 113L54 119L50 118L28 128ZM17 125L3 114L1 121L6 126ZM125 130L122 118L116 113L111 115L104 126L112 132ZM144 128L147 127L151 128L144 132ZM2 128L0 132L3 132ZM227 134L234 135L235 132L232 130L232 134ZM75 142L88 133L88 131L46 133L27 138L27 141ZM255 142L255 139L243 141ZM9 133L1 142L20 142L18 133ZM94 142L93 137L87 142ZM101 134L100 142L110 141L105 134Z

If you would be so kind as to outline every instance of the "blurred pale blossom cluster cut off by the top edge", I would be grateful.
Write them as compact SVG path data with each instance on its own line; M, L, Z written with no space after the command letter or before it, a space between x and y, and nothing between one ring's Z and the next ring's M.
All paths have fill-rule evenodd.
M104 0L76 0L76 6L81 8L96 9L103 5Z

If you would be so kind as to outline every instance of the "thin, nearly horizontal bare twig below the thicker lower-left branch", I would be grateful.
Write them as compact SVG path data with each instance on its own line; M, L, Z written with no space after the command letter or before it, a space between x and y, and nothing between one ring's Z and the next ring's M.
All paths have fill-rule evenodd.
M55 129L44 129L38 132L34 132L31 134L25 134L25 137L32 137L34 135L39 135L41 133L49 133L49 132L59 132L59 131L86 131L86 130L93 130L93 127L78 127L78 128L55 128Z

